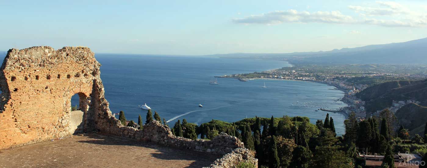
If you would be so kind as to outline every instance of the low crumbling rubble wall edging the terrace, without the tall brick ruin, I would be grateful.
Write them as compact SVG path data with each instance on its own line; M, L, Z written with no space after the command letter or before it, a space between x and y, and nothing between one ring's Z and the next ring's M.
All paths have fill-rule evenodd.
M115 127L104 128L101 133L135 139L137 141L155 142L191 151L223 155L220 159L216 159L210 168L234 168L240 162L249 162L254 164L255 167L258 165L258 159L255 159L254 151L246 149L243 142L237 139L237 137L229 136L226 133L220 133L212 140L191 140L174 136L169 127L155 120L144 125L143 130L137 130L133 127L123 127L117 119L114 118L112 120L116 122Z

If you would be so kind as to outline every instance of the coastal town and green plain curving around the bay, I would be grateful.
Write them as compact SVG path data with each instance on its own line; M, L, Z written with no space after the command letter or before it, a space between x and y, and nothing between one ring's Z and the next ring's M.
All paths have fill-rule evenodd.
M370 65L372 66L372 65ZM311 68L310 68L311 67ZM365 101L357 97L357 93L362 90L387 81L396 80L416 80L427 78L426 69L416 66L401 67L402 71L389 71L390 67L376 67L362 70L366 65L348 65L347 67L317 67L317 66L301 66L301 67L283 67L276 70L268 70L262 72L253 72L246 74L233 74L216 76L218 78L237 78L240 81L248 81L251 79L278 79L278 80L297 80L310 81L328 84L334 86L334 90L342 90L344 96L339 101L348 104L347 107L342 107L338 110L319 109L327 112L342 113L348 116L351 112L356 114L359 119L365 119L366 109ZM396 67L392 67L396 69ZM386 71L386 72L385 72ZM399 108L409 103L418 104L415 100L394 100L393 105L388 107L390 111L395 113ZM372 116L379 116L382 110L377 110Z

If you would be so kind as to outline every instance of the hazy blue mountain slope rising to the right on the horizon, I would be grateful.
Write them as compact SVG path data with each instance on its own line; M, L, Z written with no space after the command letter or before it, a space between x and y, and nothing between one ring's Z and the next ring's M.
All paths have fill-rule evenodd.
M209 56L280 59L294 64L426 64L427 38L402 43L378 44L319 52L231 53Z

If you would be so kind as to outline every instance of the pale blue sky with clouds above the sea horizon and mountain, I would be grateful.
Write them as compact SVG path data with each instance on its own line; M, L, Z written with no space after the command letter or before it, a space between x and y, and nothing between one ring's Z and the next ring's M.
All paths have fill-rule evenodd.
M427 1L0 0L0 50L284 53L427 37Z

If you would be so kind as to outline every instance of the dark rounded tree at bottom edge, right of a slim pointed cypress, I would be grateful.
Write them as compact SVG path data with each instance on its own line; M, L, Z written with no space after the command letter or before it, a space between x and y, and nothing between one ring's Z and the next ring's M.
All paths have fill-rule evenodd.
M303 146L297 146L292 151L292 162L290 162L289 168L308 168L310 157L310 150Z

